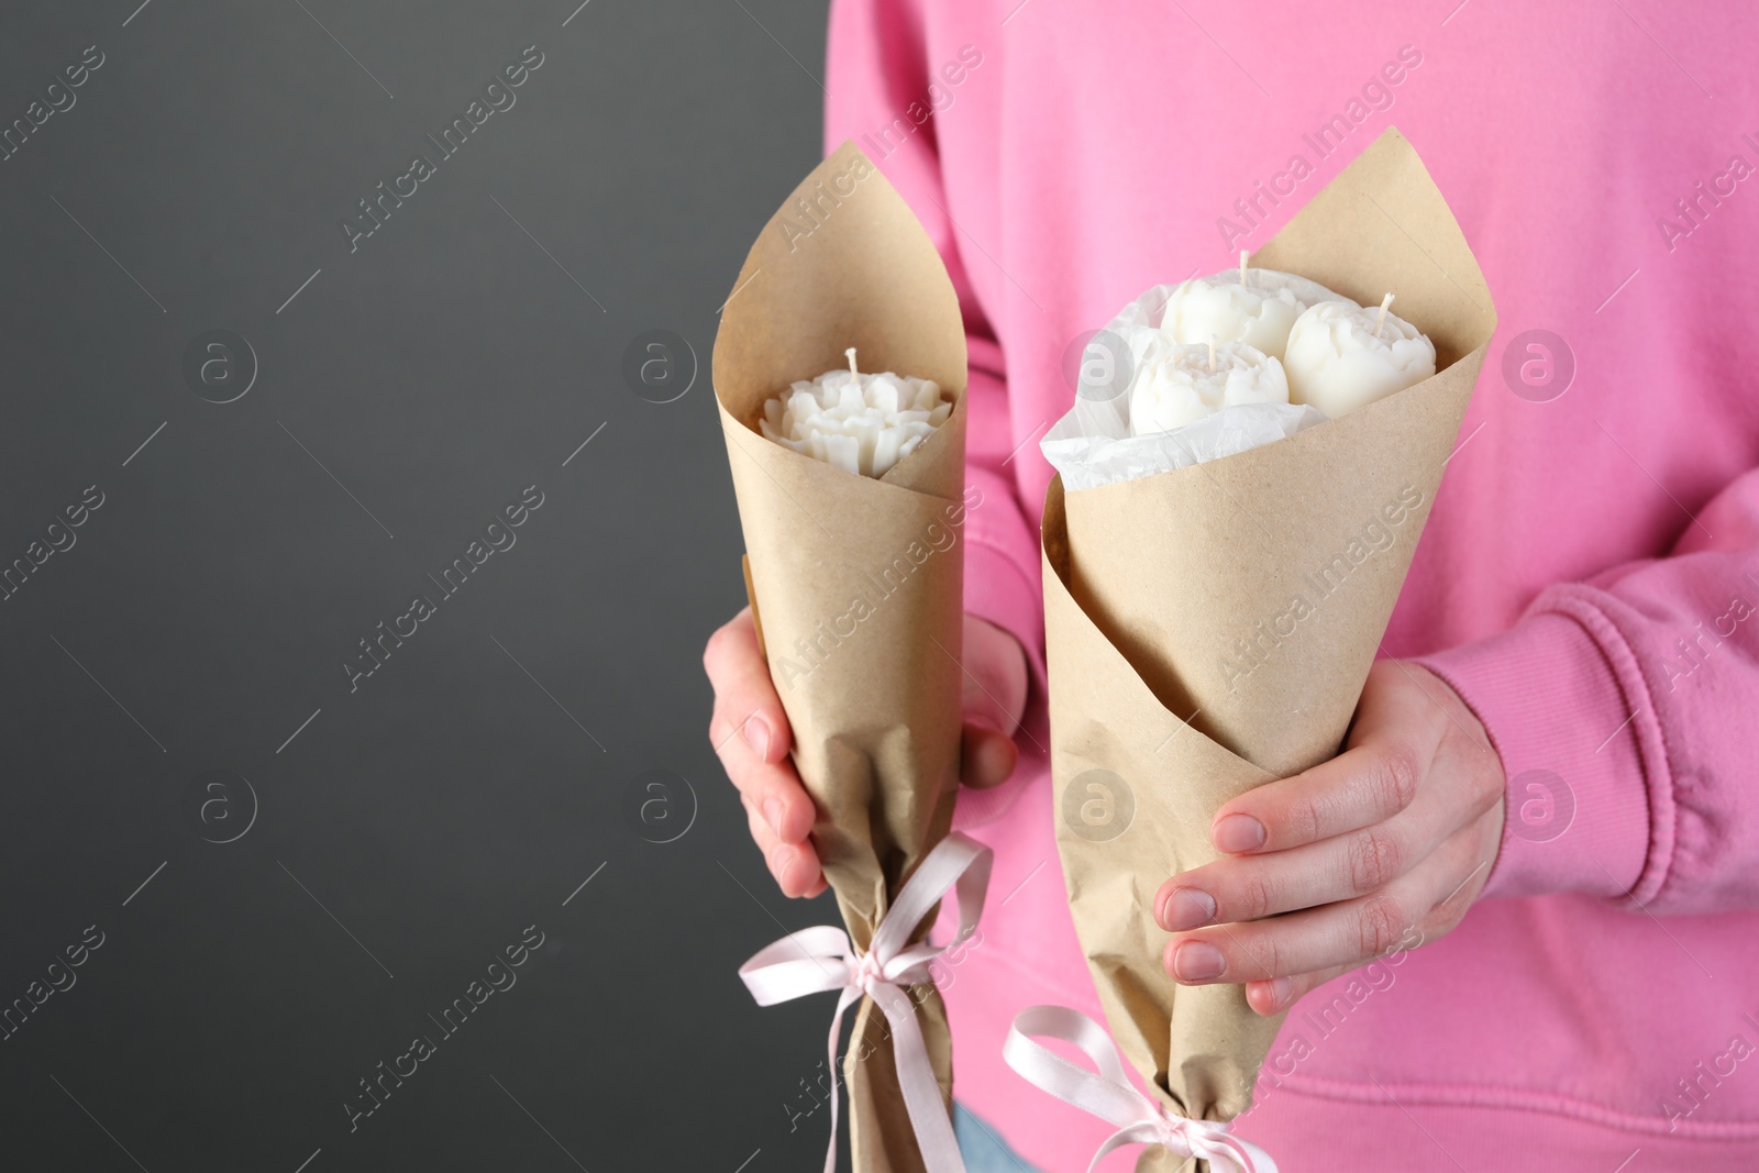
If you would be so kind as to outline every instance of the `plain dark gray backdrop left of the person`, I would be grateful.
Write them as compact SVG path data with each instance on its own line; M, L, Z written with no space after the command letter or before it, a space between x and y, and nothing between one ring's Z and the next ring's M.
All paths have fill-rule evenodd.
M104 494L0 601L0 1006L104 944L0 1041L0 1166L823 1159L828 1113L788 1104L832 1001L758 1009L735 969L836 913L770 885L700 654L742 601L716 310L820 158L825 4L575 4L4 7L0 123L106 60L0 164L0 565ZM350 253L355 200L533 44L517 104ZM259 364L225 404L183 376L213 329ZM700 359L674 403L624 383L649 329ZM426 575L533 484L442 600ZM415 594L438 612L350 693ZM668 844L623 816L656 769L698 804ZM670 797L649 839L688 823ZM526 925L547 944L442 1039Z

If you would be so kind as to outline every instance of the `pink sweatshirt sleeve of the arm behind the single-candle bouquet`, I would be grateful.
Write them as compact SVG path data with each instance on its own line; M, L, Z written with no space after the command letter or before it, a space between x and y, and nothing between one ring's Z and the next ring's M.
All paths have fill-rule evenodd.
M939 135L929 98L931 62L922 11L909 0L837 0L830 5L825 149L853 139L872 158L872 134L899 120L913 123L908 142L876 158L922 222L952 276L966 325L966 485L973 506L964 524L966 612L1020 640L1031 672L1022 758L1045 744L1043 596L1038 538L1013 477L1013 426L1003 348L969 281L962 237L946 190ZM890 141L890 139L888 139ZM971 492L974 491L974 494ZM1011 781L964 791L955 827L1001 814L1033 770L1022 760Z

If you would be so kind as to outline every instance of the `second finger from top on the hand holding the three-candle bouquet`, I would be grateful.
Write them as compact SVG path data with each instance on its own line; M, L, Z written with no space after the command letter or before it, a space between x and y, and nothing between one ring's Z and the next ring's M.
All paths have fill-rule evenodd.
M1288 851L1228 856L1173 876L1156 893L1168 932L1258 920L1379 892L1446 837L1430 818L1395 818Z

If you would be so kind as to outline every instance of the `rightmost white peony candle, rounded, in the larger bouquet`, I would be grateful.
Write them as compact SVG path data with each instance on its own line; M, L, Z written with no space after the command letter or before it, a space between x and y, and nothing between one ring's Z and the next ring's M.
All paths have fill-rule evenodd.
M1321 302L1289 329L1289 403L1332 419L1421 383L1435 373L1435 345L1395 313L1391 294L1374 310Z

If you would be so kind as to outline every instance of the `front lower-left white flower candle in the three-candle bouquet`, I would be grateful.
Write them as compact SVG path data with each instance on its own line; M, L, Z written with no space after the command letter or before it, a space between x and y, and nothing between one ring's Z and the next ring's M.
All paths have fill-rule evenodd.
M1288 403L1282 364L1240 341L1150 353L1129 392L1129 433L1149 436L1242 403Z

